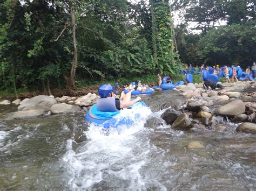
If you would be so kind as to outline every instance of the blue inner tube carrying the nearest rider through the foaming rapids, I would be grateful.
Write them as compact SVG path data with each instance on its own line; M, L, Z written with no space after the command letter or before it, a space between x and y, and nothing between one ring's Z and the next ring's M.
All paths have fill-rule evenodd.
M134 106L147 107L147 105L143 102L136 102L134 105L129 108L133 108ZM90 110L87 112L85 119L91 123L96 123L97 125L103 124L104 128L117 128L119 125L132 125L134 121L129 118L123 118L120 121L117 121L115 116L120 114L120 111L114 112L102 112L99 111L97 104L92 105ZM137 116L139 118L139 116Z

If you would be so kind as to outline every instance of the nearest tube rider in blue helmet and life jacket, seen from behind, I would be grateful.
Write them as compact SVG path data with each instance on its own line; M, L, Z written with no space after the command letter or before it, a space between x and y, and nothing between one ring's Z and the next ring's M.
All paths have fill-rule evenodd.
M122 92L119 100L118 97L114 96L113 86L111 84L103 84L98 89L100 98L97 100L97 107L103 112L114 112L126 107L130 107L142 99L140 97L136 97L135 100L131 100L132 91L133 90L126 94Z

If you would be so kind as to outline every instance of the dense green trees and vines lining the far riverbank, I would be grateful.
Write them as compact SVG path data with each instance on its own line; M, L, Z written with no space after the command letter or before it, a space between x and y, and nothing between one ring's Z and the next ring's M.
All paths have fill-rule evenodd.
M0 0L1 89L250 66L255 24L254 0Z

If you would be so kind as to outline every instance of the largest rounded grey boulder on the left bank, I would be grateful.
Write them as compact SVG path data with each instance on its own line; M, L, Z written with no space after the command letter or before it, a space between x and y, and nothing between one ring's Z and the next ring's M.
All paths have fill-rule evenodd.
M19 105L19 111L25 110L40 110L40 111L50 111L52 105L56 104L57 101L55 98L39 95L36 97L32 97L30 100L23 101L21 105Z

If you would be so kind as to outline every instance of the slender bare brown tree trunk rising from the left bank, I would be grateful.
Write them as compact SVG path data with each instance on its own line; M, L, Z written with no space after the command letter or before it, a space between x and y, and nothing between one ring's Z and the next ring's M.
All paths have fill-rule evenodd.
M73 36L73 60L72 66L70 70L70 76L68 81L68 89L72 89L75 87L75 75L76 75L76 68L77 68L77 43L76 43L76 23L75 23L75 12L73 10L72 0L69 0L69 10L71 15L71 26L72 26L72 36Z

